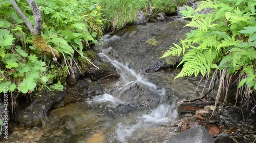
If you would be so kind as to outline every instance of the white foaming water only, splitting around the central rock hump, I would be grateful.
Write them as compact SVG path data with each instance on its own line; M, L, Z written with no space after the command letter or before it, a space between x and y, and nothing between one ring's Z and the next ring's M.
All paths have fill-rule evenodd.
M166 101L165 89L159 89L158 86L148 81L141 74L136 73L133 69L130 69L128 65L111 60L104 53L99 53L102 59L110 62L120 75L120 80L116 83L117 92L113 92L115 95L105 93L100 96L96 96L89 103L108 103L107 106L115 108L119 105L125 105L123 98L120 98L120 93L124 93L127 89L138 88L139 90L148 90L150 93L154 93L155 97L160 98L158 105L151 109L150 112L144 112L141 115L129 119L129 121L120 120L116 124L116 130L114 137L119 142L130 142L129 139L133 138L135 132L143 132L144 129L156 126L158 123L173 121L178 117L178 111L176 109L176 101ZM133 87L133 84L139 84L137 87ZM130 96L130 95L125 95ZM135 95L136 96L136 95ZM146 96L146 95L145 95ZM125 98L126 99L126 98ZM130 113L131 114L131 113ZM109 140L109 142L112 142Z

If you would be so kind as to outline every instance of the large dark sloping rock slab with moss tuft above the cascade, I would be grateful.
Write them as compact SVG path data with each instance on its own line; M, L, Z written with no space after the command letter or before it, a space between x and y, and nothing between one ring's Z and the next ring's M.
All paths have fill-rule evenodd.
M154 72L162 67L174 66L181 57L159 59L163 53L185 38L190 28L185 27L186 21L147 23L123 28L114 34L103 36L97 45L98 51L108 55L112 60L129 63L129 68L141 72ZM146 41L155 39L158 44Z

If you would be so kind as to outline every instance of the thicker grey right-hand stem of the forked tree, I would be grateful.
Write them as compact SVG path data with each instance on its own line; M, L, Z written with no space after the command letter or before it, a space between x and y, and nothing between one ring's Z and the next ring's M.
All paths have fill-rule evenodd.
M34 0L27 0L33 15L34 15L34 19L35 19L35 26L34 26L34 31L33 33L35 35L41 35L41 31L42 31L42 15L41 15L41 11L38 8L37 4L35 3Z

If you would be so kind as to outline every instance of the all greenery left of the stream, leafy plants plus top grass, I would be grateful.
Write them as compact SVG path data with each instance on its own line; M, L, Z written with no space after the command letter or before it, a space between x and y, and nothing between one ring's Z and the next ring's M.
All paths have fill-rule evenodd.
M0 0L0 93L4 87L11 95L62 91L66 76L72 73L71 61L86 58L84 50L96 44L104 30L114 32L134 23L138 10L168 12L177 2L37 0L42 30L41 35L34 35L31 27L36 19L31 5L23 0Z

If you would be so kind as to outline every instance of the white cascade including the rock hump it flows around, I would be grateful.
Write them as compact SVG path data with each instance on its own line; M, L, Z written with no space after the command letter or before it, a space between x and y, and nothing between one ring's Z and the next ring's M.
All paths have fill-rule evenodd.
M117 69L120 80L109 93L95 97L92 102L111 102L110 107L114 108L120 107L118 104L132 107L144 105L151 108L150 113L142 112L135 117L130 113L127 117L123 117L123 120L116 124L113 138L124 143L130 142L129 139L138 132L142 133L148 128L154 128L158 123L172 121L178 117L175 98L171 101L167 100L165 89L158 88L135 70L111 60L104 53L99 53L99 56Z

